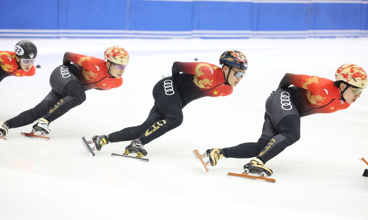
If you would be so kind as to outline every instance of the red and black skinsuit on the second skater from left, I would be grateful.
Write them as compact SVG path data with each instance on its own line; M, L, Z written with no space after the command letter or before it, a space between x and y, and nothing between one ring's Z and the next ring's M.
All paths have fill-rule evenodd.
M122 78L110 76L105 60L66 52L63 65L56 67L51 73L52 90L49 94L33 109L22 112L6 123L9 128L17 128L31 124L39 118L52 122L82 104L88 89L107 90L122 84Z

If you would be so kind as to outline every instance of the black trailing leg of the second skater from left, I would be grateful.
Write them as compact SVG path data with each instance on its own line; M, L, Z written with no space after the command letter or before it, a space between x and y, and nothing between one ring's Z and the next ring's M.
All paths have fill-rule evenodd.
M54 106L57 100L59 100L57 94L54 91L50 91L50 93L33 109L26 110L5 123L8 124L9 128L29 125L45 115Z

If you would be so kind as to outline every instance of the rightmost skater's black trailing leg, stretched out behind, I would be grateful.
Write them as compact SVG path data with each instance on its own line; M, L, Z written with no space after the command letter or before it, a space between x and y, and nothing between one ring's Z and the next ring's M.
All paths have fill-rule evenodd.
M252 158L256 157L263 148L265 148L273 136L277 135L276 129L272 125L270 116L265 113L265 122L263 123L262 135L258 142L242 143L235 147L226 147L222 149L223 156L226 158Z

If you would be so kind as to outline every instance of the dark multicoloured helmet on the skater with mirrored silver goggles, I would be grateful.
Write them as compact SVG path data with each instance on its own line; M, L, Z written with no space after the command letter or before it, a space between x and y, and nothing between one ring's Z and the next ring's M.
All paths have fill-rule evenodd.
M220 56L220 65L227 64L229 66L237 67L241 70L248 69L248 59L240 51L228 50L223 52Z

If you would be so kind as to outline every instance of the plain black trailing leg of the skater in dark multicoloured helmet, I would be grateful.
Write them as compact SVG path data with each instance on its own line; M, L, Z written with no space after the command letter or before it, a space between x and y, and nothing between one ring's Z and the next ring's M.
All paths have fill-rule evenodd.
M143 124L124 128L123 130L109 134L109 142L113 143L138 139L138 137L141 136L142 133L144 133L149 127L151 127L152 124L162 119L163 116L160 114L160 111L155 104L149 112L148 118L145 122L143 122Z

